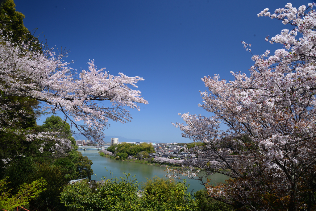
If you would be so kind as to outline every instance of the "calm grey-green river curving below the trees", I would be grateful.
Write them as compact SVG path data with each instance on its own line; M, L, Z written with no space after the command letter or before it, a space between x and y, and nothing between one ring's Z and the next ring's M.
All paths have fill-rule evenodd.
M136 175L138 183L146 182L146 178L152 178L154 176L165 177L167 174L165 167L145 165L140 163L126 162L122 160L114 160L100 156L97 150L79 150L83 156L87 156L88 159L92 160L93 164L91 168L93 169L94 175L91 176L93 180L101 180L104 177L110 178L110 171L112 177L124 177L124 173L130 173L131 175ZM106 167L106 169L104 168ZM108 170L108 172L106 171ZM225 182L225 179L229 177L222 174L213 174L209 176L209 179L213 184L219 182ZM187 179L187 183L190 184L188 191L192 190L196 192L204 188L200 181L194 179Z

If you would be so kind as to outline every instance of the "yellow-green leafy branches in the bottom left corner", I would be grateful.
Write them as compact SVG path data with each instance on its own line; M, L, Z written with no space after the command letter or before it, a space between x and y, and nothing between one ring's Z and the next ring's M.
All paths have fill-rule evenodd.
M13 210L17 206L25 206L31 199L36 199L40 193L46 190L47 184L43 178L33 181L30 184L23 183L17 187L17 193L11 194L6 179L0 180L0 209Z

